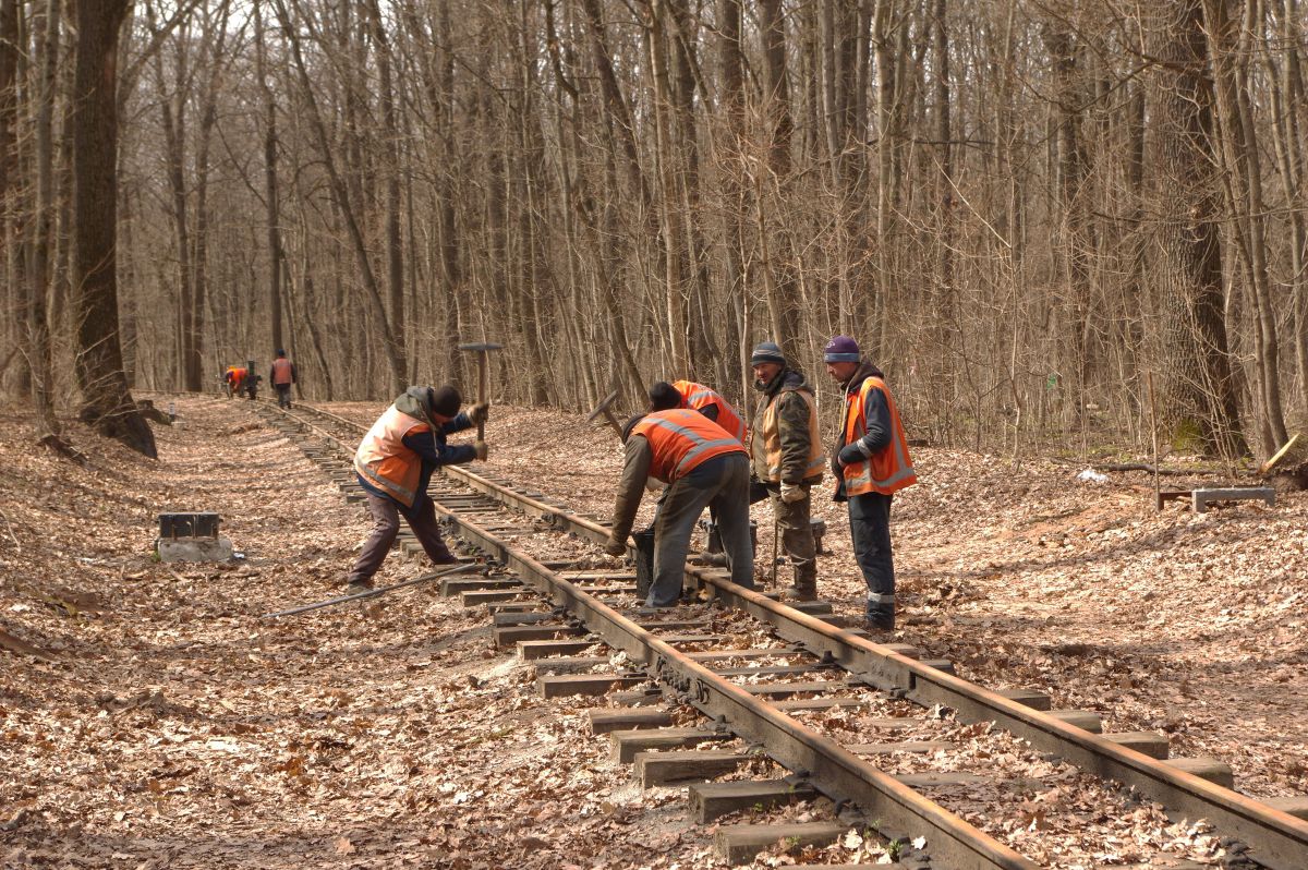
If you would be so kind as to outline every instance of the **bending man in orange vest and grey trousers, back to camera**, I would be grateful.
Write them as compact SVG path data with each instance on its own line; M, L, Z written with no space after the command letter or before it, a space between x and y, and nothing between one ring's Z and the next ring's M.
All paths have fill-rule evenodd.
M617 484L613 523L604 549L621 556L636 521L645 481L670 484L654 519L654 580L646 604L672 607L681 595L691 531L705 506L731 566L731 581L753 587L749 544L749 461L722 426L689 408L638 415L623 428L627 459Z

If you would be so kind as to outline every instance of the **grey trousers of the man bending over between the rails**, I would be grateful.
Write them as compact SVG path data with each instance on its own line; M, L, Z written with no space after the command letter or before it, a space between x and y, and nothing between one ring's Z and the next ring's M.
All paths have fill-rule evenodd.
M671 607L681 597L695 521L712 508L731 565L731 582L753 587L749 544L749 461L731 453L705 461L668 487L654 518L654 582L646 603Z

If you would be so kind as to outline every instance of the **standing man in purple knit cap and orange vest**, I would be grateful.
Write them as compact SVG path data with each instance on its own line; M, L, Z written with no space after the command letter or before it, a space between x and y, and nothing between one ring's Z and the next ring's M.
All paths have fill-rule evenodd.
M854 557L867 583L867 627L893 631L891 500L917 483L908 438L886 375L862 356L854 339L833 338L823 348L823 361L845 394L845 419L832 451L832 471L836 501L849 502Z

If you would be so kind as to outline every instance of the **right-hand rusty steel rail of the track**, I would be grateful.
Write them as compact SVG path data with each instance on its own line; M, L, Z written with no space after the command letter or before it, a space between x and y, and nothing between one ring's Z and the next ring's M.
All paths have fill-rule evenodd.
M339 423L364 428L317 408L313 411ZM514 492L511 488L467 468L446 466L442 471L506 506L548 518L552 526L560 531L569 531L595 543L602 543L608 536L608 529L598 522ZM456 518L455 521L463 525L463 521ZM500 546L504 547L502 543ZM769 623L783 640L803 644L818 657L831 658L875 688L906 697L923 706L935 704L950 706L964 721L995 722L997 726L1029 740L1036 748L1058 755L1082 771L1135 788L1173 812L1184 814L1188 818L1205 818L1216 826L1223 835L1241 840L1249 846L1248 857L1271 870L1303 870L1308 867L1308 822L1303 819L1186 773L1165 761L1067 725L964 679L922 665L756 591L736 586L729 580L726 572L687 565L687 576L692 577L701 589L709 589L713 597L723 599L729 606L744 610L756 619ZM573 603L569 595L565 595L562 600L551 595L551 599L556 604ZM579 602L577 607L581 614L595 612ZM596 631L596 627L590 624L586 627L590 631ZM596 633L603 636L603 632L596 631ZM619 648L625 649L624 646ZM633 657L637 654L630 649L627 652ZM640 661L658 666L657 658L641 658ZM689 662L689 666L704 670L693 662ZM818 739L825 738L818 737ZM790 765L787 764L787 767Z

